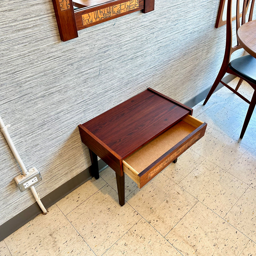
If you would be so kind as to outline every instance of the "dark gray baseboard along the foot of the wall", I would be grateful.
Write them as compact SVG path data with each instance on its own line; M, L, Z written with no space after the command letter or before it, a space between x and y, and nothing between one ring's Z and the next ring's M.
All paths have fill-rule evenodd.
M225 83L230 82L233 80L236 76L228 75L225 78L223 78L223 81ZM221 87L223 87L222 84L219 84L216 91L219 90ZM191 100L188 100L185 105L192 108L202 100L204 100L210 91L210 88L207 88L203 92L199 93L195 97L193 97ZM100 171L104 170L107 167L107 164L105 164L101 159L99 162L99 169ZM44 204L44 207L47 209L56 202L58 202L61 198L68 195L70 192L81 186L84 182L87 180L92 179L91 175L91 166L84 170L83 172L80 172L77 174L74 178L71 180L68 180L66 183L61 185L59 188L55 189L48 195L41 198L42 203ZM37 203L34 203L30 205L27 209L20 212L10 220L7 220L4 224L0 226L0 241L2 241L5 237L11 235L14 231L28 223L28 221L35 218L38 214L40 214L42 211Z

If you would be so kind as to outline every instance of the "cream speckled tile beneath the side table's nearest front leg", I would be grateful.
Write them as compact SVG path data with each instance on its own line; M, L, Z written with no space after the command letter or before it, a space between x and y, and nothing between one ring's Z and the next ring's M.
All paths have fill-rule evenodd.
M97 256L102 255L141 219L129 204L119 205L118 195L109 185L66 217Z

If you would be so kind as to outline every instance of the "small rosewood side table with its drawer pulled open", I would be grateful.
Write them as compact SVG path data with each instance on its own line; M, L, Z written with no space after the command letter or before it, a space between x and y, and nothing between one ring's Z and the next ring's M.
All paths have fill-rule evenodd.
M99 178L99 156L116 172L119 204L124 205L124 172L141 188L204 136L207 124L192 117L192 112L148 88L79 124L81 140L90 151L93 176ZM161 149L154 151L154 147ZM147 155L150 150L153 152ZM137 171L132 165L142 169Z

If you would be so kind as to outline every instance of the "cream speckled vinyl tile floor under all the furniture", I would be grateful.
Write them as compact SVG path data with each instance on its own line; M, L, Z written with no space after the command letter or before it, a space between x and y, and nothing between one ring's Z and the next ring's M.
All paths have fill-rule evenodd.
M126 176L123 207L108 167L1 241L0 255L256 255L256 111L241 140L246 108L221 88L194 107L205 136L142 189Z

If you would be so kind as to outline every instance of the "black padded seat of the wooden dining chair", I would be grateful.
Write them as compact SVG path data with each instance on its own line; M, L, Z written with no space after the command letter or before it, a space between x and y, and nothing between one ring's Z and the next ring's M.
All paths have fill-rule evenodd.
M228 67L244 79L256 84L256 59L245 55L229 62Z

